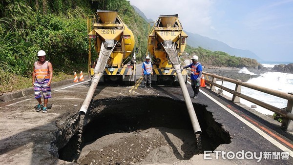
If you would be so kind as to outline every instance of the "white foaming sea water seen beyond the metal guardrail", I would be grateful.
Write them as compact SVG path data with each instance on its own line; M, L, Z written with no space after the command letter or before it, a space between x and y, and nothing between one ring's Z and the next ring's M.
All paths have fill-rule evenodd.
M293 63L293 62L289 62ZM277 64L277 63L275 63ZM265 67L273 67L275 65L274 63L264 63L263 65ZM286 63L288 64L288 62ZM254 75L251 71L249 71L247 68L242 68L239 73L246 73L250 75ZM218 84L222 84L222 81L217 81ZM263 74L260 74L257 78L251 78L248 83L266 87L269 89L281 91L284 93L293 93L293 74L289 73L281 73L281 72L265 72ZM235 84L231 82L223 82L223 86L230 88L232 90L235 90ZM219 88L216 87L216 90ZM278 108L285 108L287 107L287 100L282 99L276 96L272 96L270 94L266 94L254 89L250 89L247 87L242 86L241 87L241 93L247 96L250 96L251 98L257 99L259 101L262 101L264 103L268 103L270 105L273 105ZM232 98L232 94L223 90L223 94ZM249 107L251 105L256 105L255 103L251 103L245 99L240 98L240 103L243 103ZM259 105L256 105L256 108L254 108L256 111L265 114L265 115L273 115L274 112L263 108Z

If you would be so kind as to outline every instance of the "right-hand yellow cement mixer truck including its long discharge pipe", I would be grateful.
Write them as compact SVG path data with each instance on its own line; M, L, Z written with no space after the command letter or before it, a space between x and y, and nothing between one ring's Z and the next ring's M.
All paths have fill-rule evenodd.
M179 56L182 55L187 34L182 30L178 14L160 15L148 35L148 51L153 60L151 80L180 85L188 114L195 134L201 133L193 104L187 90L187 71L180 68Z

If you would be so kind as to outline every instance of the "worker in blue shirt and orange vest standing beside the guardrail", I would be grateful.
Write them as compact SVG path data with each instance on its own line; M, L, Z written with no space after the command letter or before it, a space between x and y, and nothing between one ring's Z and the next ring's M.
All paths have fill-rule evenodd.
M193 99L198 98L198 93L199 93L199 85L200 85L200 78L202 76L203 72L203 67L202 64L198 62L198 56L194 55L191 58L192 63L190 63L187 66L184 66L183 68L186 69L188 67L191 68L191 74L190 74L190 79L191 79L191 87L194 92L193 96L190 96Z

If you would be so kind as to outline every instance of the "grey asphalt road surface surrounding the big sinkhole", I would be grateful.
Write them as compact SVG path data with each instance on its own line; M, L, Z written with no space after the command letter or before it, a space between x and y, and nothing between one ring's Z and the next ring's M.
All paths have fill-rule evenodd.
M141 65L137 65L137 78L141 82ZM49 101L46 114L37 113L37 104L33 96L0 103L0 164L63 164L52 155L57 147L54 132L58 131L55 124L62 121L62 116L77 113L86 96L90 82L70 83L53 89L53 98ZM183 100L180 87L155 86L144 89L143 84L136 86L98 86L94 99L116 96L152 95L167 96L175 100ZM188 84L188 91L192 91ZM204 95L207 93L211 98ZM292 164L293 136L280 128L280 124L268 119L265 115L255 115L253 110L230 100L207 88L201 88L199 99L193 103L206 105L215 121L231 137L230 144L221 144L213 153L196 155L191 160L205 158L206 163L224 164ZM219 102L221 106L215 102ZM239 118L240 117L240 118ZM240 120L239 120L240 119ZM243 120L245 119L245 120ZM266 120L265 120L266 119ZM53 146L53 147L52 147ZM286 151L286 152L285 152ZM230 157L223 153L230 152ZM243 159L233 158L233 153L242 152ZM250 156L255 152L255 157ZM287 155L290 152L290 156ZM218 159L217 159L218 155ZM56 155L55 155L56 156ZM238 155L240 157L240 155ZM266 157L270 159L265 159Z

